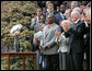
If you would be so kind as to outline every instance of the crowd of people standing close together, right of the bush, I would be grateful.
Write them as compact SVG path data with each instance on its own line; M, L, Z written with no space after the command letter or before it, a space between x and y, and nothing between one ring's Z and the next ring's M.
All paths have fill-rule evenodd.
M38 1L31 21L37 70L90 70L91 1Z

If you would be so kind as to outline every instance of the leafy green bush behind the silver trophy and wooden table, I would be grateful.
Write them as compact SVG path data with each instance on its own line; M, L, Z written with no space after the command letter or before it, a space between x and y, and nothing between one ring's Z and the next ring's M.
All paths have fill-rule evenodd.
M34 31L28 31L33 13L36 13L36 1L1 1L1 45L12 47L13 36L10 35L10 29L16 25L23 25L23 32L20 34L20 47L23 51L31 51L32 44L26 40L26 37L33 38ZM4 60L2 60L4 62ZM7 66L2 64L2 70L7 70ZM22 70L22 61L18 60L11 64L11 70ZM33 61L26 60L26 69L33 70Z

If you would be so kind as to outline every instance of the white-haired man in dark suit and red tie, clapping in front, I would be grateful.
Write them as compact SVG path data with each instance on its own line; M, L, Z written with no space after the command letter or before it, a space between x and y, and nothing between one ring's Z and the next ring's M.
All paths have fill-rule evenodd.
M71 12L71 19L73 20L73 24L70 24L69 31L65 34L66 37L69 37L70 64L72 70L83 70L83 35L85 24L80 20L78 11Z

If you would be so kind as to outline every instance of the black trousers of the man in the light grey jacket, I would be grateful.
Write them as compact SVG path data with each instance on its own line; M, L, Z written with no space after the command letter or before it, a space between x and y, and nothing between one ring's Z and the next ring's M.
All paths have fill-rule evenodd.
M59 55L45 55L44 62L44 70L59 70Z

